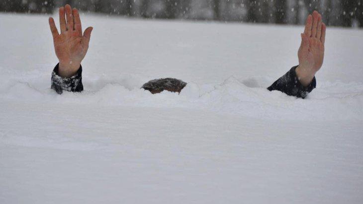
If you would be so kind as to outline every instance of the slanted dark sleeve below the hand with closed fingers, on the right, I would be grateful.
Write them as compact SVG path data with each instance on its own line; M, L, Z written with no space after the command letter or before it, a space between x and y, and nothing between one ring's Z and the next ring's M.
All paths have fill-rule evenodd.
M316 79L307 86L304 87L295 72L297 66L291 68L287 73L277 79L272 85L267 88L269 91L278 90L286 93L289 96L296 96L299 98L305 98L316 87Z

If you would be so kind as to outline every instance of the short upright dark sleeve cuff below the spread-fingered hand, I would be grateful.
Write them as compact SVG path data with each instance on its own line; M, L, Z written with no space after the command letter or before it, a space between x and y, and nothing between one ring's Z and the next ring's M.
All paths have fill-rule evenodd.
M54 89L58 94L62 94L63 90L72 92L83 91L82 66L78 69L76 74L70 78L63 78L59 76L58 68L59 64L56 65L52 72L52 89Z

